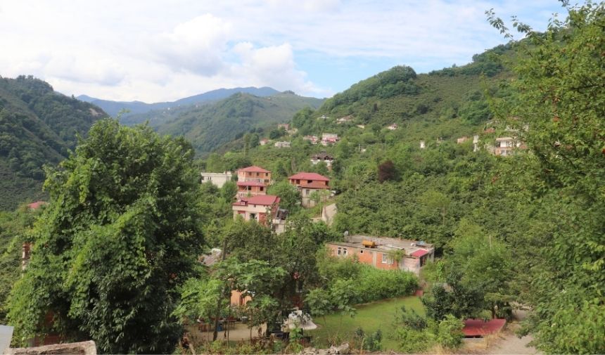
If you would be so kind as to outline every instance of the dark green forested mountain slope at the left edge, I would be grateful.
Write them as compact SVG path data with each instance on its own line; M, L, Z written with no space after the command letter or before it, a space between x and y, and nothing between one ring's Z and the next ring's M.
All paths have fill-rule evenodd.
M0 78L0 209L42 198L42 165L57 164L106 112L32 76Z

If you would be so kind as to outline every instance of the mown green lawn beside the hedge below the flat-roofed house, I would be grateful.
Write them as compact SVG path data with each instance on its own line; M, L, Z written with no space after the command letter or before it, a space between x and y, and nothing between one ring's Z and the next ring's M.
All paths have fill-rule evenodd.
M400 309L401 306L414 309L419 314L424 315L424 306L419 297L384 299L383 301L357 306L355 317L343 316L342 324L340 324L340 314L326 316L325 323L323 317L314 318L313 321L319 328L307 331L305 335L312 335L312 342L315 346L326 347L329 344L329 339L336 336L340 337L341 342L351 342L355 330L359 327L363 328L366 334L374 333L380 329L383 333L383 350L395 350L397 343L389 339L389 334L393 329L395 310Z

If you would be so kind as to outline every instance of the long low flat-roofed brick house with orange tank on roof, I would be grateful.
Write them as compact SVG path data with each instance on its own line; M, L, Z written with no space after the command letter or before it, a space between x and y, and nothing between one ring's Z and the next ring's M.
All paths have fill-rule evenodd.
M357 257L376 269L411 271L418 275L427 262L435 259L433 245L415 240L348 235L344 242L326 244L336 257ZM397 258L397 259L396 259Z

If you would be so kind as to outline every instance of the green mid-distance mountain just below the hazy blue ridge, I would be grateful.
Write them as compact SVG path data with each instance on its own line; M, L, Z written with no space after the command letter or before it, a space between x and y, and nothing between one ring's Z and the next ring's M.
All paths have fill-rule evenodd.
M322 99L298 96L292 91L266 97L235 93L217 103L153 111L128 117L127 120L130 123L148 120L159 133L184 136L193 143L198 153L205 154L248 131L287 122L298 110L318 108L321 103Z

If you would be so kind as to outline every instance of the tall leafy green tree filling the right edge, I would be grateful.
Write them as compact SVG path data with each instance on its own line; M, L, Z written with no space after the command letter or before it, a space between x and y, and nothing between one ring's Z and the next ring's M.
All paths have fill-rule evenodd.
M507 124L533 152L521 168L533 172L531 198L550 215L550 228L528 235L547 242L536 246L542 264L530 276L535 311L526 331L542 351L596 354L605 351L604 338L593 336L603 333L605 314L605 4L567 10L545 33L514 22L528 39L516 47L516 95L502 119L518 117Z

